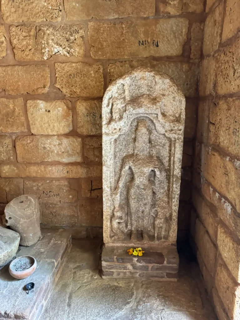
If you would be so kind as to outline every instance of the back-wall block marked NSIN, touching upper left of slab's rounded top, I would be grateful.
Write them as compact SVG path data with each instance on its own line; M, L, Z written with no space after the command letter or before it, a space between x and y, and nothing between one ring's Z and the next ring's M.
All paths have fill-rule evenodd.
M103 68L100 63L55 63L56 84L68 97L98 98L103 95Z

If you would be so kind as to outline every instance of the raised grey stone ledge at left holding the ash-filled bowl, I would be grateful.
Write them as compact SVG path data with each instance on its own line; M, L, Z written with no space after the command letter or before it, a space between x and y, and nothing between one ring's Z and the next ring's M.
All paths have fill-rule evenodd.
M60 276L65 257L71 247L67 230L42 229L42 239L29 247L20 246L17 257L30 255L37 260L36 271L26 279L10 276L8 265L0 271L0 320L38 319L52 288ZM34 282L27 294L23 287Z

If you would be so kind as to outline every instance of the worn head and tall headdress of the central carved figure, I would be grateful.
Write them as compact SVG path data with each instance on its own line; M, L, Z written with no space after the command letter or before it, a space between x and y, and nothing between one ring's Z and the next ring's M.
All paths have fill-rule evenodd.
M149 154L149 132L147 122L140 120L135 132L134 153L139 155Z

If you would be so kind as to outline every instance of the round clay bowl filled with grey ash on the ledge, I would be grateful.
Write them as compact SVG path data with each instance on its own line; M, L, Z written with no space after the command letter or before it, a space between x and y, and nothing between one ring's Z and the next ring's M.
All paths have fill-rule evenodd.
M37 261L31 256L22 256L14 259L9 266L9 273L13 278L25 279L30 276L37 267Z

